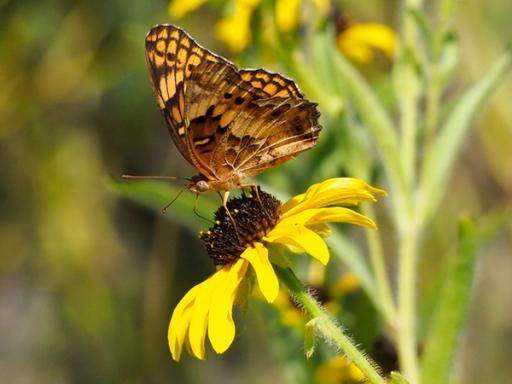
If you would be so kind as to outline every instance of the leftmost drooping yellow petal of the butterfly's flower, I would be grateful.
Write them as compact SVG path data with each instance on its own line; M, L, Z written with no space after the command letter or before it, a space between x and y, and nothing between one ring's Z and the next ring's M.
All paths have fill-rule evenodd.
M167 331L167 340L171 356L178 361L183 349L183 342L187 337L190 319L192 317L192 308L197 293L201 290L203 283L196 285L180 300L174 309Z

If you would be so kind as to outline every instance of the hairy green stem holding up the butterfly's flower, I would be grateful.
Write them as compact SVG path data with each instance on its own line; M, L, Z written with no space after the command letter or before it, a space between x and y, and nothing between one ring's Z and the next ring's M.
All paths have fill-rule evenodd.
M340 348L368 378L370 383L385 384L385 379L377 372L376 365L364 355L350 338L343 333L335 320L323 310L289 268L274 266L279 280L288 288L304 311L315 320L315 328L322 336Z

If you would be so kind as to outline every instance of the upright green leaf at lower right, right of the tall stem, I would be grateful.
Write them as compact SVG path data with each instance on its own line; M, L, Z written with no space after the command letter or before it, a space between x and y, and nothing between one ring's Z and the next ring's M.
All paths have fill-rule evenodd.
M445 277L423 352L421 382L424 384L448 382L471 299L477 243L475 232L472 221L461 219L457 259Z

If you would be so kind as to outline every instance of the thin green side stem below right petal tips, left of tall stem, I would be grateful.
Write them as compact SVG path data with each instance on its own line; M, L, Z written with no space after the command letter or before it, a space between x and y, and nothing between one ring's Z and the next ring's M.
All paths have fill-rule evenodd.
M370 218L375 217L375 212L371 204L361 205L363 215ZM391 294L386 263L384 261L384 252L382 250L382 241L379 231L365 231L370 252L370 261L372 270L375 274L376 293L378 295L377 307L380 309L384 319L390 328L394 328L396 307Z

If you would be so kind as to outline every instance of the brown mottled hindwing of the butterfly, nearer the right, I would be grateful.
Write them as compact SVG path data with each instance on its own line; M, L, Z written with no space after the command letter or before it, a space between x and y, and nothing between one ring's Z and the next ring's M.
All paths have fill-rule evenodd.
M280 75L250 72L263 73L267 84L282 79L281 89L272 90L283 97L271 96L265 83L255 87L236 68L218 62L202 62L189 81L186 103L195 107L187 118L195 150L217 178L235 172L254 176L311 148L318 138L316 104Z

